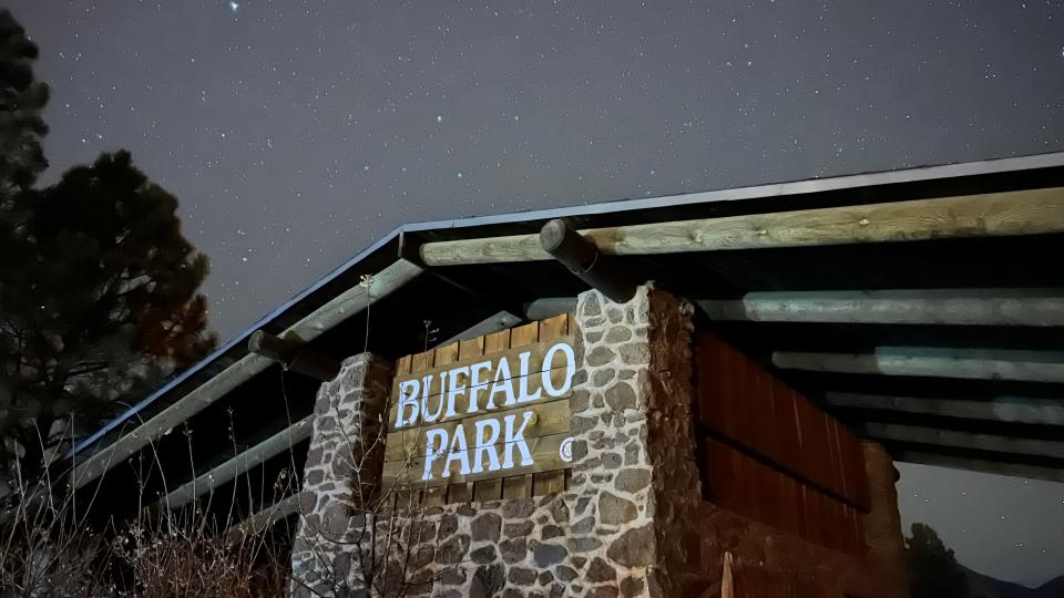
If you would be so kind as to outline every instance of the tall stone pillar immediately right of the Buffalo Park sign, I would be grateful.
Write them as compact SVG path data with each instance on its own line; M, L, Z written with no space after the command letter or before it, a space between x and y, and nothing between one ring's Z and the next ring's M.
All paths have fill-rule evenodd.
M698 560L689 517L699 499L690 315L653 286L623 305L597 291L579 298L572 595L687 595L682 569Z

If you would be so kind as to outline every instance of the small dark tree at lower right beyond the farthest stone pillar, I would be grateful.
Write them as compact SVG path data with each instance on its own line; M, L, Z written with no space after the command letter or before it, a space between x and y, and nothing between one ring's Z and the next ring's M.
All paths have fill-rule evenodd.
M938 533L914 523L906 538L911 598L968 598L968 575Z

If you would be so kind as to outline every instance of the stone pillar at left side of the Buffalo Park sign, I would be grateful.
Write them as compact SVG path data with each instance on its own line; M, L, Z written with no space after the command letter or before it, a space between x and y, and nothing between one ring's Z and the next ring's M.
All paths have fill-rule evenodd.
M391 391L392 364L361 353L321 384L304 466L299 526L291 550L295 596L346 595L359 589L361 506L379 485L381 416ZM311 591L314 588L316 591Z

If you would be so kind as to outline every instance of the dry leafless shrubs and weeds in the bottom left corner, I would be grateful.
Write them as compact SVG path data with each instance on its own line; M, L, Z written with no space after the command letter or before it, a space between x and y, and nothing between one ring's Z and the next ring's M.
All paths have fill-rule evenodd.
M268 530L229 535L232 520L215 527L198 509L142 511L103 530L79 515L72 493L47 477L19 480L0 505L0 598L286 596L287 555Z

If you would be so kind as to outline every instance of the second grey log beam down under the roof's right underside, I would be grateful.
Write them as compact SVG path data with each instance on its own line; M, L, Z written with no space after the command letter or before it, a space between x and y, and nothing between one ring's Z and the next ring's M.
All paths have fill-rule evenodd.
M777 351L773 363L812 372L1064 383L1064 353L1057 351L880 347L858 354Z

